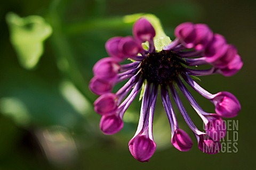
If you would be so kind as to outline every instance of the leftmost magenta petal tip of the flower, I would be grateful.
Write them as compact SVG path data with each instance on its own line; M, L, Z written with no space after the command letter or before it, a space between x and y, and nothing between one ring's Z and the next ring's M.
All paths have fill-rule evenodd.
M113 85L113 82L93 77L89 83L89 88L94 94L103 95L111 92Z

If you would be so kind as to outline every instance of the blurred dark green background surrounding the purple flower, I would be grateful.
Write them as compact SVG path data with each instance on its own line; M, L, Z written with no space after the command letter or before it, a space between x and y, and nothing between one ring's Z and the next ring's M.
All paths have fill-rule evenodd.
M42 41L50 36L44 42L42 57L32 69L31 63L26 63L26 58L22 59L10 42L11 27L9 30L6 23L9 12L22 18L39 15L51 25L51 35L49 25L39 23L38 31L29 21L24 27L31 33L35 31L37 37L29 39L30 33L19 33L23 37L18 45L27 47L20 53L29 53L30 57L39 52ZM149 163L137 162L127 147L137 129L139 102L134 102L125 114L121 132L112 136L100 132L100 116L92 108L97 96L88 89L92 67L107 56L106 40L132 34L132 23L123 22L123 16L134 13L155 14L171 39L174 28L181 22L209 24L214 32L221 33L238 48L244 62L238 74L229 78L202 77L200 82L211 92L230 91L241 102L242 111L233 118L239 122L237 153L207 155L199 151L181 116L178 116L179 124L189 133L194 146L188 152L173 148L170 126L159 97L154 117L157 150ZM255 21L256 1L1 1L0 169L253 169ZM214 111L209 101L191 92L206 111ZM187 101L185 106L202 129L202 121Z

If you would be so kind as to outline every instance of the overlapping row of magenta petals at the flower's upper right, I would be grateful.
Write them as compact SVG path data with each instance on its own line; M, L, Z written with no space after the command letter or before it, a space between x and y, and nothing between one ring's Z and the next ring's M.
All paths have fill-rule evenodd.
M213 66L212 72L198 71L196 73L192 71L191 74L207 75L221 73L229 77L236 74L243 66L236 47L227 44L226 39L222 35L213 33L205 24L185 22L178 25L174 33L177 38L164 49L171 50L174 48L175 50L177 44L182 46L183 49L193 49L189 52L180 52L183 60L187 60L189 66L202 64Z

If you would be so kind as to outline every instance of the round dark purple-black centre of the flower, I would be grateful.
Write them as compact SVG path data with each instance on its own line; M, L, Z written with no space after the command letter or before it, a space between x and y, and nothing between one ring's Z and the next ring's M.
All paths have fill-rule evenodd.
M182 71L177 54L162 50L151 53L141 62L141 72L148 82L167 85L173 82Z

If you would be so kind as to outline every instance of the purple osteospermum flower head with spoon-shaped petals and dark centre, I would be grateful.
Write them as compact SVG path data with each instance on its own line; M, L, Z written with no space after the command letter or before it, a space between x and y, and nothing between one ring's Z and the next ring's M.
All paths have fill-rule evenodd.
M147 162L156 150L153 117L158 89L160 89L163 106L171 126L172 145L180 151L188 151L193 146L193 142L178 126L170 94L195 134L198 148L207 154L218 153L221 149L220 140L226 135L226 126L222 117L236 116L241 105L229 92L211 94L199 86L191 75L235 74L243 65L236 48L227 44L223 36L213 33L207 25L201 23L187 22L178 25L175 29L176 39L161 51L156 51L154 46L156 31L147 19L141 18L135 22L133 36L109 39L106 50L110 57L101 59L93 67L94 78L90 82L90 89L94 94L100 95L94 102L94 109L102 115L101 131L105 134L114 134L123 128L124 113L144 86L139 125L129 142L129 149L135 159ZM148 49L141 45L146 41ZM131 58L134 62L120 64L127 58ZM191 69L191 66L205 64L210 65L211 68ZM115 84L128 79L129 81L121 89L116 93L112 92ZM185 82L214 104L215 113L207 113L198 105L186 88ZM198 130L191 121L182 105L177 88L202 118L205 132Z

